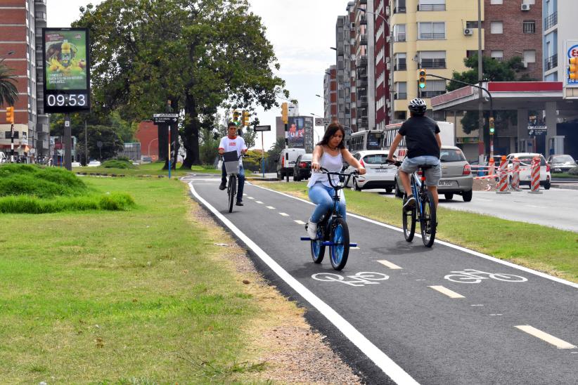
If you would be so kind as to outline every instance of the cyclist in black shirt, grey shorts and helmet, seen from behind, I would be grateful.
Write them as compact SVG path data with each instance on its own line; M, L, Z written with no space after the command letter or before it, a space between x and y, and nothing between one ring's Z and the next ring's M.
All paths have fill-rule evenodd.
M439 165L439 148L442 147L442 139L439 138L439 127L435 120L424 116L428 106L425 101L415 98L409 102L410 118L399 129L394 138L387 159L393 161L393 155L399 142L406 137L407 156L399 167L399 178L402 180L407 195L404 209L411 210L416 206L416 199L411 193L409 174L415 172L420 164L431 164L433 167L425 170L425 185L432 193L435 207L437 207L437 183L442 176Z

